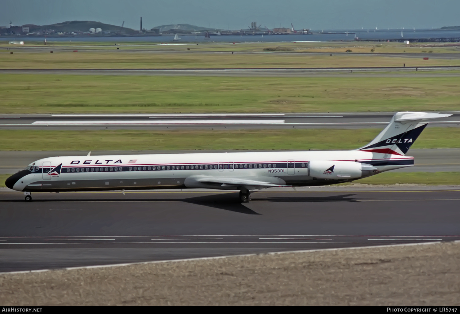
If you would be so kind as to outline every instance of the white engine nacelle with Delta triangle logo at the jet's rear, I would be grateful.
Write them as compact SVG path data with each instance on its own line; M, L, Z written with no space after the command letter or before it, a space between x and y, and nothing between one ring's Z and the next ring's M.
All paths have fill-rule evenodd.
M308 175L319 179L357 179L362 177L362 163L313 160Z

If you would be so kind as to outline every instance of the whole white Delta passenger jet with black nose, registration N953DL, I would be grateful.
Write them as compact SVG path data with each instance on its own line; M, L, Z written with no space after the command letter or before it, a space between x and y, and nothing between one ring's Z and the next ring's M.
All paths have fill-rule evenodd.
M240 191L351 182L414 165L406 156L428 121L450 114L397 112L368 145L350 151L219 152L49 157L6 179L8 188L34 192L206 188Z

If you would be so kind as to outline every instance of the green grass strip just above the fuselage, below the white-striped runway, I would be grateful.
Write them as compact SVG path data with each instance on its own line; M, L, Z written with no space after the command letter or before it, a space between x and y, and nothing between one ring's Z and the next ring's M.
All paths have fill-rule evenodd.
M348 150L380 129L0 130L3 151L53 150ZM412 148L460 147L460 128L429 127Z

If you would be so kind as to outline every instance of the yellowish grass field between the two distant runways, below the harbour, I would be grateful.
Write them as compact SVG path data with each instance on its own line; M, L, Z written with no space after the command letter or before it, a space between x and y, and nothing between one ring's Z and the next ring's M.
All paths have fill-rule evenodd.
M122 49L122 48L121 48ZM128 48L125 48L128 49ZM131 47L129 47L131 50ZM183 48L186 50L186 48ZM67 69L67 68L203 68L203 67L422 67L460 65L458 59L423 57L389 57L362 55L166 53L114 51L25 50L0 52L2 69ZM319 49L321 50L321 49ZM319 51L318 51L319 52Z

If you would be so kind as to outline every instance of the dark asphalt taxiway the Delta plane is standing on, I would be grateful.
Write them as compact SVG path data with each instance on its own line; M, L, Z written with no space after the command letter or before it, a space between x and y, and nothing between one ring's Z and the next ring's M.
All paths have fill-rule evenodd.
M401 189L401 188L400 188ZM460 239L460 190L0 190L0 271Z

